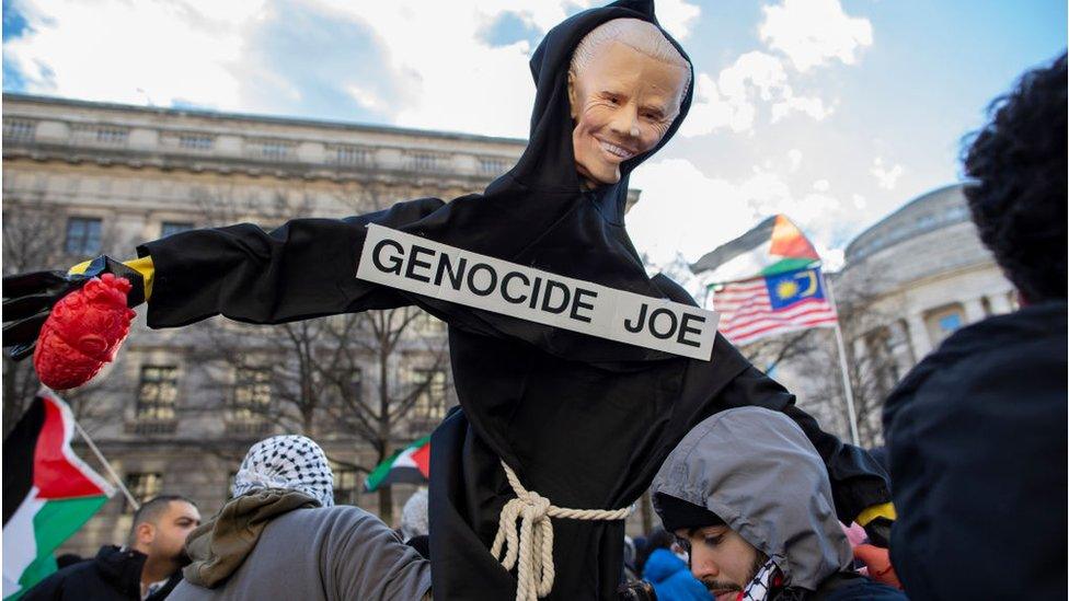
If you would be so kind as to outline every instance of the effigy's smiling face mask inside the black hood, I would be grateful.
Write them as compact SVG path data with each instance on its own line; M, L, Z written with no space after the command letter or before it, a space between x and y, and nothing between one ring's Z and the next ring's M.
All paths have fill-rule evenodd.
M613 42L568 78L575 169L591 186L620 181L620 163L657 146L679 114L689 72Z

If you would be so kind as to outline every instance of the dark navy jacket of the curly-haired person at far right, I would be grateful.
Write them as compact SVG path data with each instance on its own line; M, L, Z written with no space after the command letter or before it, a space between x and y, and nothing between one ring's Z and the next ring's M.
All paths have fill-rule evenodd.
M962 328L887 400L910 599L1066 593L1066 301Z

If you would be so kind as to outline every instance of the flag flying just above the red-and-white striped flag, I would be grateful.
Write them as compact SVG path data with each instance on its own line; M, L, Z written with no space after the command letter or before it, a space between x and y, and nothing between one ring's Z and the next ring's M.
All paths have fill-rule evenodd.
M804 269L820 261L813 244L786 216L773 215L690 266L709 284Z

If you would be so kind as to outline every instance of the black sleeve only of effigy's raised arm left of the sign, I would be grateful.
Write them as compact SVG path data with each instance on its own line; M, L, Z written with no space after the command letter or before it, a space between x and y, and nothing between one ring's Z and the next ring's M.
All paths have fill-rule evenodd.
M138 254L152 265L148 324L220 314L284 323L410 304L396 290L356 279L367 226L410 226L442 205L425 198L346 219L295 219L269 232L241 223L142 244Z

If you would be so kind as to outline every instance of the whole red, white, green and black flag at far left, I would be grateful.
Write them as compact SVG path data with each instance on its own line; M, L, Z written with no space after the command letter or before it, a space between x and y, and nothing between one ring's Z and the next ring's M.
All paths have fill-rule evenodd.
M70 448L74 417L43 390L3 441L3 599L56 571L53 551L114 489Z

